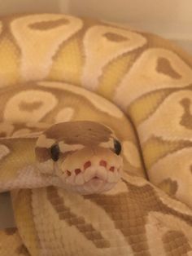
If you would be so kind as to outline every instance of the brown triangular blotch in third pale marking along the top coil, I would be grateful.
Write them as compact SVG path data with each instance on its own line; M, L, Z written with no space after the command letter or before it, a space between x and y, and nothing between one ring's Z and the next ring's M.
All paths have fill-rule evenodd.
M164 73L173 79L181 79L181 75L172 68L170 62L165 58L159 58L157 60L156 70L157 72Z

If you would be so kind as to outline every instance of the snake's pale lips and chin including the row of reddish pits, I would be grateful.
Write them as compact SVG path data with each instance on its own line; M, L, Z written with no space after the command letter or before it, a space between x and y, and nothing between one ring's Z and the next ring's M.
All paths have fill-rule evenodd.
M82 157L81 157L82 158ZM81 194L100 193L110 190L120 181L123 160L119 156L68 158L61 164L63 186Z

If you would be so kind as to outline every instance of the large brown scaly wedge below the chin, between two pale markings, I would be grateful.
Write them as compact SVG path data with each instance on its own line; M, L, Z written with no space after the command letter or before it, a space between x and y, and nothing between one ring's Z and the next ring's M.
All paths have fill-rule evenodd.
M135 193L137 194L137 191ZM140 201L143 201L144 194L145 189L142 190ZM116 229L123 233L124 239L128 241L135 254L150 256L145 228L147 214L144 208L140 206L138 201L139 194L137 194L136 200L134 196L125 192L115 196L85 196L85 199L94 201L110 215ZM151 201L151 205L152 203L153 201Z

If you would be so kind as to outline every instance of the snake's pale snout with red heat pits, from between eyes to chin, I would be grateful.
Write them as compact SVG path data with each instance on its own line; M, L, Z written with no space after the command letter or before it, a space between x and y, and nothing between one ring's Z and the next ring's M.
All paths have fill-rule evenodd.
M123 160L108 148L82 148L59 161L59 177L77 192L104 192L119 182Z

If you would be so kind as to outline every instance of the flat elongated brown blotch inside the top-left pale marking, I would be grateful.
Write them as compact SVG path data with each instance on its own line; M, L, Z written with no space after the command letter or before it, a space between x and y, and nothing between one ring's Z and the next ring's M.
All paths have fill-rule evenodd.
M30 29L34 30L49 30L49 29L55 29L59 26L63 26L69 24L69 20L67 19L59 19L59 20L48 20L48 21L41 21L36 22L29 25Z

